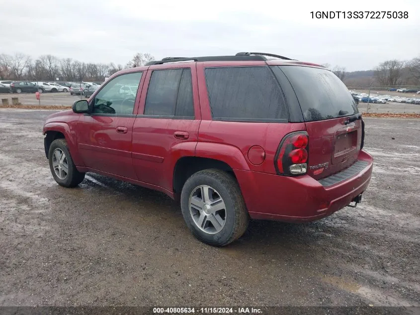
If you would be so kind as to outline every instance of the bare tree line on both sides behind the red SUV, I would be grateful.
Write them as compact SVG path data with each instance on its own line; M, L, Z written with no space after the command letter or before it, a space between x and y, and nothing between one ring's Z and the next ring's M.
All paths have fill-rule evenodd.
M155 60L150 53L137 53L126 64L115 63L85 63L72 58L58 58L53 55L42 55L37 59L16 53L14 55L0 54L0 79L31 80L31 81L98 81L103 82L122 69L139 67ZM344 67L331 67L344 83L356 84L357 79L346 80L348 72ZM364 80L363 83L361 80ZM373 69L373 77L360 79L360 84L373 80L381 86L420 85L420 57L409 61L386 60ZM370 83L370 82L369 82Z

